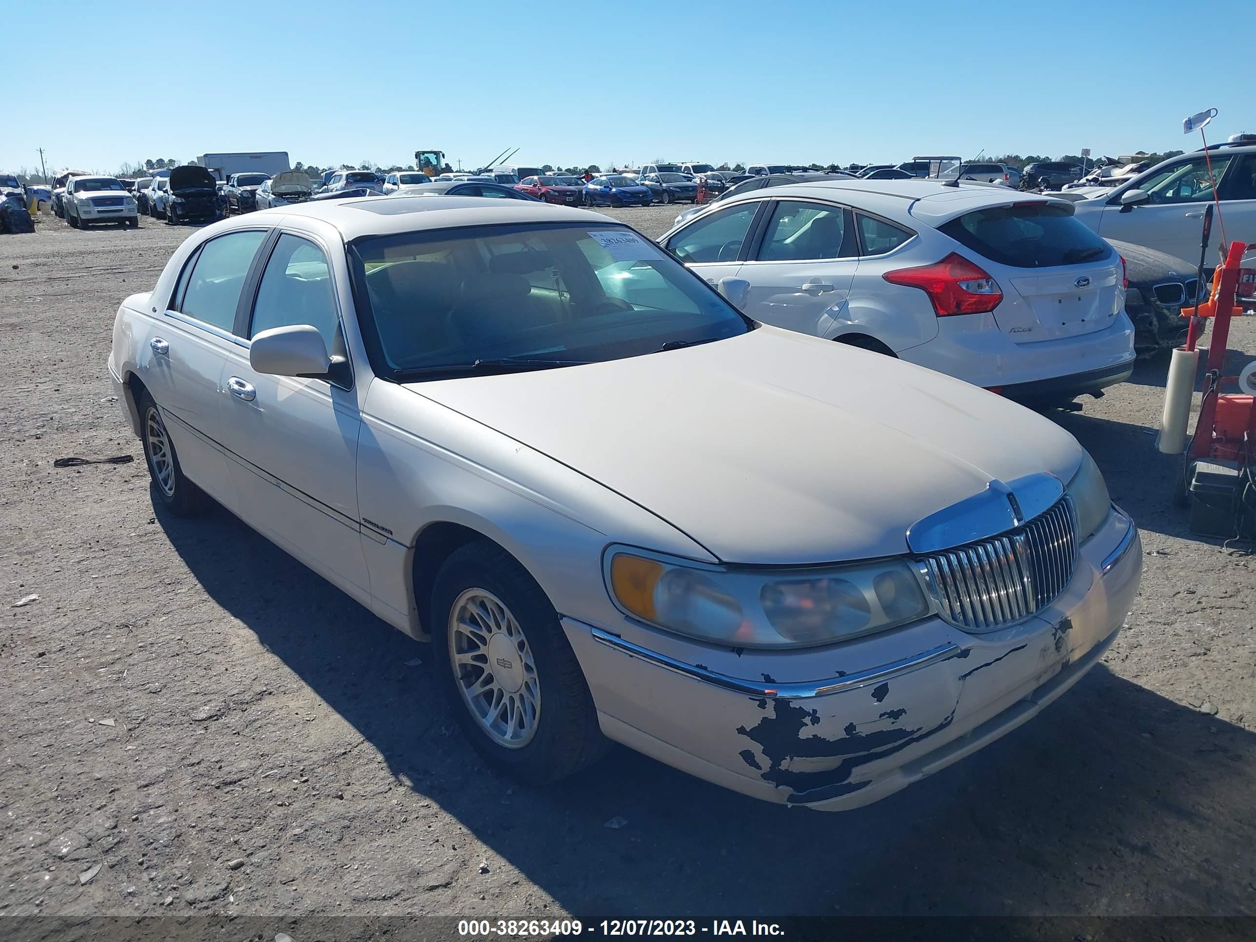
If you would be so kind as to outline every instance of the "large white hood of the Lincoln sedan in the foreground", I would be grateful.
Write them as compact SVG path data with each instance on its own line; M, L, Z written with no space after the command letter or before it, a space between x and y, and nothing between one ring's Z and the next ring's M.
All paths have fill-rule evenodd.
M582 367L411 384L646 507L728 563L898 555L907 529L1081 452L958 379L761 327ZM613 535L612 535L613 536Z

